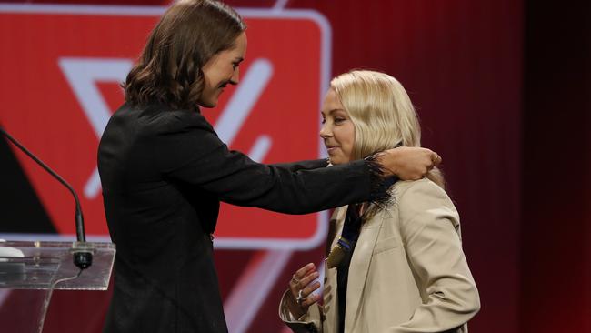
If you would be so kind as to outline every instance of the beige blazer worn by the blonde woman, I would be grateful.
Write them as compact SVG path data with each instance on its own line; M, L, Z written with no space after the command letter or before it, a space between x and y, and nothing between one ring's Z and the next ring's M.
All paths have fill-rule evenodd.
M349 268L345 332L467 332L480 300L456 207L426 178L399 181L392 195L394 203L361 227ZM332 246L345 215L340 207L331 218ZM284 294L279 316L294 332L337 332L336 268L325 277L324 306L313 305L302 318L292 318Z

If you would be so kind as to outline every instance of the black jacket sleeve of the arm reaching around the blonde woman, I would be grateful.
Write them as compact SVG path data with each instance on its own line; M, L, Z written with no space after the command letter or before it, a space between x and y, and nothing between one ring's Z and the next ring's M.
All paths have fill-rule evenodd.
M306 214L376 197L374 177L363 160L321 168L315 167L326 162L259 164L228 150L195 112L167 113L153 138L154 162L165 177L238 206Z

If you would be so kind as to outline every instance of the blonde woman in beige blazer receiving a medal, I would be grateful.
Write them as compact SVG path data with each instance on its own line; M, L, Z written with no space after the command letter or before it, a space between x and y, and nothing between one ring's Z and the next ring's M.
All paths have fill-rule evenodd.
M420 126L392 76L353 71L332 80L322 106L332 165L394 146L420 146ZM466 332L480 301L462 251L459 216L438 170L398 181L386 205L339 207L327 238L325 287L298 269L279 315L295 332Z

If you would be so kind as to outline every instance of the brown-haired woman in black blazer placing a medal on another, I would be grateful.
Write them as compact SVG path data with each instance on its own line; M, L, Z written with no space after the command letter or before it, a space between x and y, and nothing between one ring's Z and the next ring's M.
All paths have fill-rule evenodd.
M105 332L226 332L213 260L220 201L304 214L386 196L386 177L416 179L439 157L390 149L326 160L255 163L230 151L200 113L239 80L245 24L213 0L183 0L155 26L101 138L98 168L117 246ZM247 221L245 221L247 223Z

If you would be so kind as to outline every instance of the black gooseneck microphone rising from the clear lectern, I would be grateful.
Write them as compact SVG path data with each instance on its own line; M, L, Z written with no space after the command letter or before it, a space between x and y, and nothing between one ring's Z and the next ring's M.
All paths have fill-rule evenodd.
M78 200L78 195L75 193L74 188L72 188L70 186L70 184L68 184L64 180L64 178L57 175L57 173L55 173L55 171L52 170L51 167L45 165L45 163L43 163L37 156L35 156L28 149L26 149L25 146L21 145L18 141L16 141L16 139L13 136L10 136L8 133L6 133L5 129L2 128L1 126L0 126L0 134L5 136L16 147L18 147L20 150L22 150L26 154L26 156L31 157L31 159L33 159L39 166L43 167L45 169L45 171L47 171L51 176L55 177L55 179L57 179L58 182L62 183L62 185L67 187L67 189L70 191L70 193L72 193L72 196L74 196L74 201L75 201L76 237L77 237L79 243L85 243L86 242L85 222L84 222L84 217L82 215L82 207L80 206L80 200ZM90 252L88 250L76 250L76 249L74 250L74 265L76 267L78 267L80 269L86 269L86 268L90 267L92 264L93 264L92 252Z

